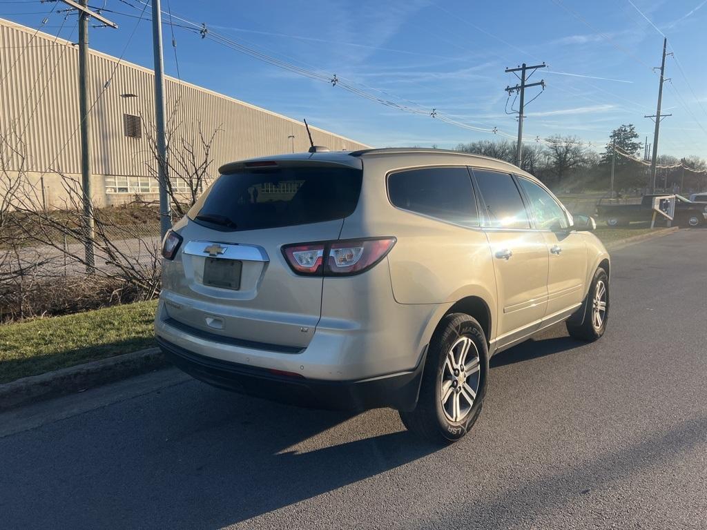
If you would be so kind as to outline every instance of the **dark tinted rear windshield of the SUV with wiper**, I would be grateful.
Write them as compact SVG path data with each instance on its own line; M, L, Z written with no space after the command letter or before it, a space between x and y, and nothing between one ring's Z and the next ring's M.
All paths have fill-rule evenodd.
M361 174L345 167L279 167L221 175L188 216L217 230L341 219L356 209Z

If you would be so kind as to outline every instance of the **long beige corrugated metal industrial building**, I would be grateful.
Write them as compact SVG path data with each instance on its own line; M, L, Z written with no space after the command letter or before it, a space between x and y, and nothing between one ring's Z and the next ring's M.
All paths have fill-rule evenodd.
M95 102L90 113L94 204L156 199L153 72L95 51L88 71L89 105ZM213 136L211 173L228 161L309 147L301 122L175 78L165 84L173 151L194 146L199 160L199 131ZM76 47L0 19L0 94L0 170L23 172L41 189L38 202L61 207L65 196L57 172L81 180ZM310 129L315 143L332 151L368 147ZM182 185L173 179L173 186Z

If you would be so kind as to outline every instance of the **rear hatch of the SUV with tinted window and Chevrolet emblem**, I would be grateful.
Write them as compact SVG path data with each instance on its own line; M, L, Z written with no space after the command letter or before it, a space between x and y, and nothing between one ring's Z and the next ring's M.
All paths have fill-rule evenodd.
M197 201L165 261L170 324L243 346L295 352L314 334L322 276L300 276L282 247L337 240L362 170L312 160L230 164Z

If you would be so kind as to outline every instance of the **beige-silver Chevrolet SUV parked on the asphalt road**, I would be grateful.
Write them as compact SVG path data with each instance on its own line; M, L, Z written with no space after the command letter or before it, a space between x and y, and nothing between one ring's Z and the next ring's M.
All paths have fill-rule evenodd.
M566 321L600 338L609 255L514 165L370 149L229 163L163 242L157 341L217 387L392 407L431 440L479 416L489 358Z

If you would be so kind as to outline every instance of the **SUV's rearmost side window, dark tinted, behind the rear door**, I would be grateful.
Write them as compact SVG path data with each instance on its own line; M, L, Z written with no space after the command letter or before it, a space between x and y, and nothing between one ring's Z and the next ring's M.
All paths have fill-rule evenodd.
M466 167L426 167L388 176L393 206L464 226L478 226L477 201Z

